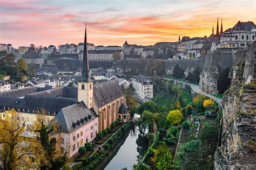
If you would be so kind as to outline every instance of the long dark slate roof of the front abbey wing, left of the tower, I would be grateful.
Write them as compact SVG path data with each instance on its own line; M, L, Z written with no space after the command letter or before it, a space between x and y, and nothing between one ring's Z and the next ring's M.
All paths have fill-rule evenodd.
M46 109L48 112L58 113L60 109L68 107L69 105L75 103L77 103L77 99L75 98L26 95L23 98L21 105L19 105L19 108L30 109L30 112L32 110L40 110L43 108Z

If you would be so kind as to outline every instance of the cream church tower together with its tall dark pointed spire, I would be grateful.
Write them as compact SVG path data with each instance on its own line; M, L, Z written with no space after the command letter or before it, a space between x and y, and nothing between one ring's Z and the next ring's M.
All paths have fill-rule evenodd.
M86 38L86 24L85 24L85 36L84 36L84 56L82 67L82 79L78 81L78 102L84 101L88 109L92 108L93 97L93 81L90 79L89 74L89 59L87 52L87 38Z

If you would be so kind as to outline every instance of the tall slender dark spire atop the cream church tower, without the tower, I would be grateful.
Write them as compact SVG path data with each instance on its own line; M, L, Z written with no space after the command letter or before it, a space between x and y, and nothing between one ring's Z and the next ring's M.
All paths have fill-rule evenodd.
M82 70L83 81L89 81L89 60L87 52L87 37L86 37L86 23L85 23L85 34L84 34L84 56L83 56L83 70Z

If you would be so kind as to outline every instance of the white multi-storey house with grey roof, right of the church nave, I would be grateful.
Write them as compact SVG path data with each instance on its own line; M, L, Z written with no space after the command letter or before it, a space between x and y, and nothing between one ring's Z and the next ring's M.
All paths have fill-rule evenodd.
M132 81L132 86L142 99L153 98L153 81L148 77L139 74L136 79Z

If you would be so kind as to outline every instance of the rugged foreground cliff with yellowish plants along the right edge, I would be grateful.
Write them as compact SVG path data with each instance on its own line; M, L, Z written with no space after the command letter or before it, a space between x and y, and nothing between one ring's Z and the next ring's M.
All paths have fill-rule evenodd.
M231 87L223 100L221 146L215 169L256 169L256 42L234 57Z

